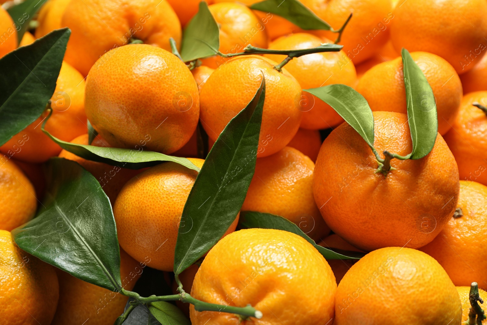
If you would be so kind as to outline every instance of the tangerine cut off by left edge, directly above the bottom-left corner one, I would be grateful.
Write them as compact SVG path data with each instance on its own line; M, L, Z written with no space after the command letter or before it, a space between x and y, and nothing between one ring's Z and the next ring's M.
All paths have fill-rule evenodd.
M30 180L12 160L0 162L0 229L12 230L34 217L36 191Z

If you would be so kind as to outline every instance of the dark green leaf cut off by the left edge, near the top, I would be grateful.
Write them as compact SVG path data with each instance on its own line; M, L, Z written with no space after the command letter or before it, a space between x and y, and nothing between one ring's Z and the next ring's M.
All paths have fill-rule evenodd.
M55 30L0 59L0 145L34 122L56 89L71 31Z

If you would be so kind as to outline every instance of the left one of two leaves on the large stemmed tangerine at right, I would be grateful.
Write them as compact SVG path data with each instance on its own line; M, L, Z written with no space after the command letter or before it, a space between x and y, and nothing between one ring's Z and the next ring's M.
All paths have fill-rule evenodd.
M303 90L330 105L371 148L374 147L374 115L362 95L341 84Z

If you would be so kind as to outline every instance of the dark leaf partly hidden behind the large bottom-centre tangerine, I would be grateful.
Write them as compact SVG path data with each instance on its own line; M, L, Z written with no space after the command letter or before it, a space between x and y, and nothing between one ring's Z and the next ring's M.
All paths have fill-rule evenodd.
M364 253L356 251L331 250L316 245L315 241L308 237L298 226L279 215L255 211L242 211L239 224L245 228L280 229L295 233L306 239L327 260L352 260L360 259Z

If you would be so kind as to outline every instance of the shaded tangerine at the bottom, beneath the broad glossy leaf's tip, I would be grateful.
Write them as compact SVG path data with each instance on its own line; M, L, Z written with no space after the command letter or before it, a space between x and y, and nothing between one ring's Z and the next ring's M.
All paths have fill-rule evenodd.
M120 278L124 289L133 289L144 270L141 265L120 249ZM56 271L59 302L51 325L81 325L83 322L86 325L108 325L123 313L129 297L75 278L67 272Z

